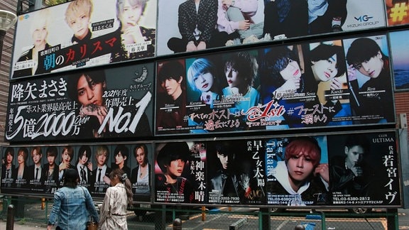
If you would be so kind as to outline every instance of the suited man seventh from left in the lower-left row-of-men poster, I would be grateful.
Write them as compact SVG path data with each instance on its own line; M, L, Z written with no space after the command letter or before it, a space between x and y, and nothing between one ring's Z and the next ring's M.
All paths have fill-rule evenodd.
M92 192L104 193L110 185L109 172L111 168L107 166L107 159L109 157L109 150L107 146L97 146L95 150L95 159L97 160L97 168L92 171L92 185L94 189Z

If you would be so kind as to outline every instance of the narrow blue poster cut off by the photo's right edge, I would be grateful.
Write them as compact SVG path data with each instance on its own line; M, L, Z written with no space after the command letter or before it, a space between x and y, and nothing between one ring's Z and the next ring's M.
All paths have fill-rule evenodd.
M389 33L393 80L395 82L396 91L409 89L409 54L405 52L405 49L409 48L408 35L409 31Z

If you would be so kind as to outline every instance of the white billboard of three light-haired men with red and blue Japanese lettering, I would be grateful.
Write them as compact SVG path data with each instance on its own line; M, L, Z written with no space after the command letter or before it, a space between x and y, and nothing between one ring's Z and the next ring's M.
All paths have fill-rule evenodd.
M18 17L10 79L155 55L157 0L75 0Z

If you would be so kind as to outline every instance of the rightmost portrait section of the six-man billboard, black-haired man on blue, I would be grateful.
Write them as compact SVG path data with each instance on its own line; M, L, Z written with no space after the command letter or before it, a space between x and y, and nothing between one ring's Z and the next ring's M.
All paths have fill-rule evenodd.
M354 124L395 121L391 58L386 35L344 39Z

